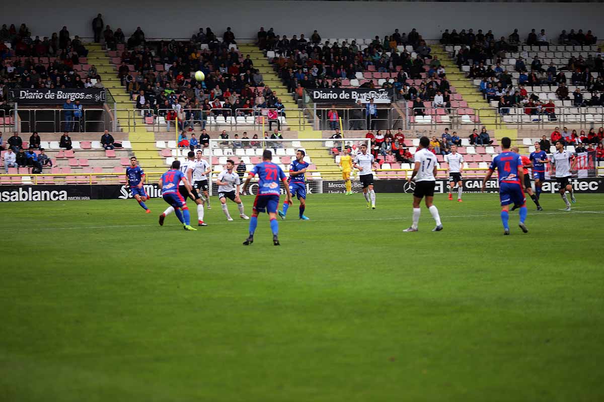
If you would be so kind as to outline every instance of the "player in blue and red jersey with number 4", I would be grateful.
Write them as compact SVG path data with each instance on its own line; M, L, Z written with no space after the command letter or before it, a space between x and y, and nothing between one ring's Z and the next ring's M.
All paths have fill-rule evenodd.
M510 204L520 206L520 222L518 226L524 233L527 233L527 227L524 221L527 218L527 204L524 197L524 172L522 172L522 159L520 155L510 151L512 140L508 137L501 139L501 154L493 158L483 180L483 192L486 183L490 179L493 171L499 171L499 198L501 201L501 222L503 222L503 234L510 234L509 210Z

